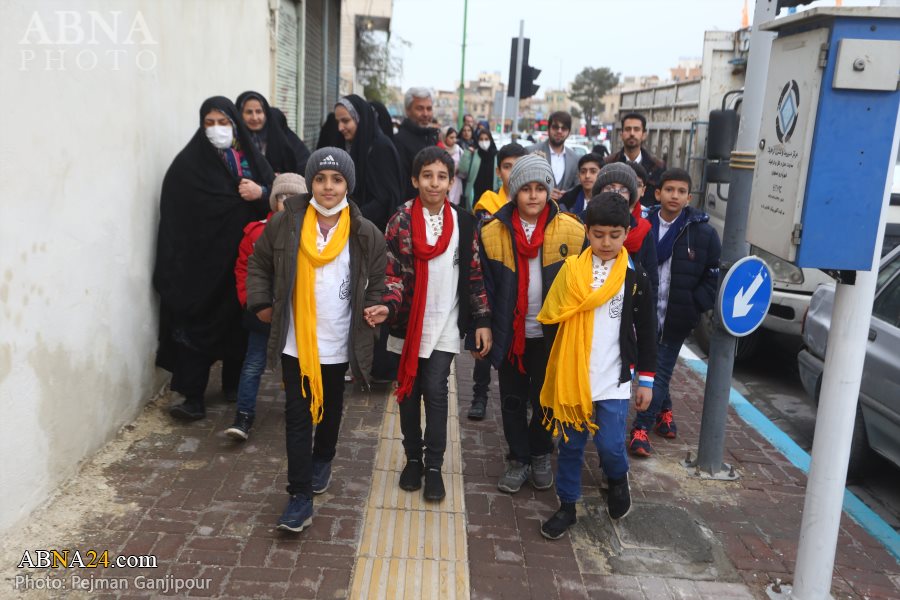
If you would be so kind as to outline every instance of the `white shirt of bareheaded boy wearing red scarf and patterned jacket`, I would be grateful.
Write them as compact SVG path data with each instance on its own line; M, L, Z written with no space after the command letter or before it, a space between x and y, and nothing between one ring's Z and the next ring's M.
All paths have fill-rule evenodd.
M444 230L443 212L425 213L425 238L435 244ZM459 219L453 215L453 235L447 251L428 261L428 294L425 296L425 315L422 319L422 341L419 358L429 358L435 350L459 354ZM411 291L411 290L409 290ZM403 353L404 340L388 337L387 349Z

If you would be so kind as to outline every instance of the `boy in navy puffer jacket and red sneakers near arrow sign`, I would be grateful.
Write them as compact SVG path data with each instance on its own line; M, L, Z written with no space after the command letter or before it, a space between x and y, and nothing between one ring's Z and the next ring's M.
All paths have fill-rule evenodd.
M631 430L628 450L634 456L653 453L647 438L651 427L660 437L675 438L669 381L685 338L716 299L722 244L708 222L709 215L688 206L690 189L687 171L665 171L656 190L659 208L652 210L648 218L648 235L657 239L659 345L653 402L646 412L638 414Z

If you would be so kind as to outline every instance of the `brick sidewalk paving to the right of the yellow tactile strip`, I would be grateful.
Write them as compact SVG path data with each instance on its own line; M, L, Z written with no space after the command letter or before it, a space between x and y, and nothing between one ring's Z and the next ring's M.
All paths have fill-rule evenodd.
M680 461L687 450L696 449L704 382L684 365L676 369L671 386L679 439L670 441L651 435L656 456L631 462L632 496L638 502L681 506L704 519L736 569L738 578L733 581L664 580L653 573L643 578L614 575L610 574L605 557L600 557L600 564L606 564L607 571L594 572L595 567L580 564L574 558L583 554L573 554L571 536L553 543L540 538L540 520L557 506L552 489L535 492L526 484L508 502L495 506L496 480L506 452L497 374L492 372L487 418L472 422L465 415L472 397L471 359L460 356L457 364L473 597L490 597L484 592L482 579L496 581L501 574L514 579L510 573L516 569L520 580L529 582L531 578L526 574L532 569L551 568L564 576L569 576L572 568L576 576L580 570L580 576L573 578L569 587L574 593L591 598L764 598L766 586L776 578L790 580L806 478L733 411L727 426L726 460L738 469L741 479L721 483L688 477ZM587 452L586 456L583 488L588 495L589 486L598 482L599 469L594 464L596 460L591 459L593 453ZM510 505L513 519L507 514ZM629 519L640 518L640 506L636 508ZM581 527L585 518L589 517L579 511L579 524L575 527ZM897 561L846 515L842 524L833 579L836 597L900 597ZM502 567L494 567L496 570L477 564L490 556L489 541L505 544L503 559L495 554L495 565L502 563ZM559 555L546 550L551 548ZM494 550L496 553L496 546ZM541 589L549 590L543 583ZM558 586L547 594L551 598L562 597Z

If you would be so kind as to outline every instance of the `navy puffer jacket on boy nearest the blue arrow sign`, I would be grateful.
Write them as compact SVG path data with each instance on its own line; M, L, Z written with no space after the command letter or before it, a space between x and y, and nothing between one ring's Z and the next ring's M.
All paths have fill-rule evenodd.
M672 279L665 298L666 317L659 332L660 339L672 342L690 335L700 322L700 315L715 305L722 254L722 243L709 224L709 215L690 206L684 210L687 224L672 249ZM651 225L659 222L658 206L650 210L647 219Z

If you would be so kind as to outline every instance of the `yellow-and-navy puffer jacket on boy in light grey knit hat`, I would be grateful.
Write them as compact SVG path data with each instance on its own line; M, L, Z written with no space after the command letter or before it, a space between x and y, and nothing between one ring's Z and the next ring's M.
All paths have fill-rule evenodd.
M507 359L513 338L513 314L518 294L518 254L512 229L513 203L507 203L481 226L481 262L484 285L491 305L493 342L488 359L497 369ZM553 280L567 256L578 256L587 247L584 225L550 202L550 214L541 247L541 299L547 297ZM523 268L528 268L524 265ZM556 325L544 325L544 343L549 350L556 336Z

